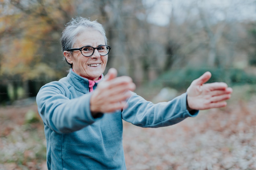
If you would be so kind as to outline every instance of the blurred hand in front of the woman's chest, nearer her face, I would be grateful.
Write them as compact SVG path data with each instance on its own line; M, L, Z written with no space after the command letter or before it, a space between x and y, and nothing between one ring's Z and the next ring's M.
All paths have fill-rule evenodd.
M124 108L126 99L131 96L131 91L134 91L136 86L132 82L131 77L116 76L116 69L109 69L104 80L100 82L97 88L93 91L90 99L90 110L92 115L98 112L114 112L115 110Z

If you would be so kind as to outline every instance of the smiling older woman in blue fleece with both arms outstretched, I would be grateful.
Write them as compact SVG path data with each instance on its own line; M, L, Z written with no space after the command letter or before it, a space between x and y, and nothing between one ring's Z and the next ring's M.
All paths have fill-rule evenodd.
M37 94L38 112L47 139L48 169L126 169L122 119L140 127L173 125L198 110L226 106L232 89L207 82L206 72L187 93L153 104L131 92L128 76L110 69L103 80L108 53L105 31L97 21L72 19L62 32L67 77L48 83Z

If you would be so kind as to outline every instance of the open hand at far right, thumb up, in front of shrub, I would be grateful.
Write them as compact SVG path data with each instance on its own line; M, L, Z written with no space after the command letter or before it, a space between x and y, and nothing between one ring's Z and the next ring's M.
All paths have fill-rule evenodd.
M231 97L232 88L223 82L204 84L210 78L211 73L205 72L188 87L187 103L190 109L205 110L227 105L225 100Z

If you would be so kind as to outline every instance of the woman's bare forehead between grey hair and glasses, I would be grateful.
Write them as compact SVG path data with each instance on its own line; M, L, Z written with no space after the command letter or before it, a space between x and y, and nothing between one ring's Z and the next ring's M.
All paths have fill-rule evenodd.
M74 45L105 45L103 35L96 30L83 30L76 37Z

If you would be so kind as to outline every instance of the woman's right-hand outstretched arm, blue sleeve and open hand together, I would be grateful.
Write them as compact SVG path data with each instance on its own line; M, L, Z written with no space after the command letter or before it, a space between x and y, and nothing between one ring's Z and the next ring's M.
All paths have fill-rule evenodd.
M206 72L191 83L187 93L169 102L153 104L134 94L122 111L123 119L141 127L163 127L194 117L198 110L225 107L232 88L223 82L204 84L210 77Z

